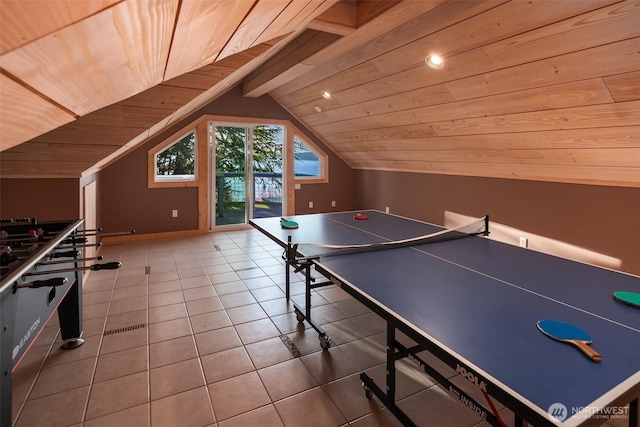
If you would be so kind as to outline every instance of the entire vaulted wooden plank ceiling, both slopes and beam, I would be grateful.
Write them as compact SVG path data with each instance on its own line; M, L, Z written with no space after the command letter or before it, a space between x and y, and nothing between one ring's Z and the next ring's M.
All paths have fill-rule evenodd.
M81 176L241 83L353 168L640 187L638 0L30 4L0 3L1 176Z

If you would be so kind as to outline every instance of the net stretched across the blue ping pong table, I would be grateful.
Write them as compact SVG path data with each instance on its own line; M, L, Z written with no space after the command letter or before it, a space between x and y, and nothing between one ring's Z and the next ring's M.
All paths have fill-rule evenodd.
M440 231L401 240L383 240L375 243L337 245L327 243L293 243L295 251L303 254L302 258L319 258L335 255L343 255L358 252L370 252L377 250L393 249L403 246L418 246L447 240L461 239L469 236L489 235L489 216L474 219L455 228L446 228ZM382 237L381 237L382 239Z

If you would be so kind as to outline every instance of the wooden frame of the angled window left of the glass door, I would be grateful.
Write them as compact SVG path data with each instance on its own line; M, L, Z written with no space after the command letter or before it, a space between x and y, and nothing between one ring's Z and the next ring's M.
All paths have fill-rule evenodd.
M194 155L194 172L190 177L175 177L172 175L157 175L157 156L169 147L177 144L186 136L193 134L193 155ZM155 145L147 152L147 185L149 188L167 188L167 187L197 187L198 186L198 127L189 126L174 133L161 143ZM166 176L166 178L165 178Z

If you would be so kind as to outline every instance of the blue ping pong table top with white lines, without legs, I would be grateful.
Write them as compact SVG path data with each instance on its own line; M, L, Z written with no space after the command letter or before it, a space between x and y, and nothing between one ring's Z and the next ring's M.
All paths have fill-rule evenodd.
M400 240L440 227L378 211L253 220L274 241L360 244ZM489 227L491 229L491 227ZM306 252L305 252L306 250ZM301 246L302 255L322 248ZM489 238L320 257L322 268L544 415L554 403L602 407L640 383L640 310L615 302L640 292L640 278ZM590 361L536 327L541 319L575 324L602 356ZM577 417L566 425L579 423Z

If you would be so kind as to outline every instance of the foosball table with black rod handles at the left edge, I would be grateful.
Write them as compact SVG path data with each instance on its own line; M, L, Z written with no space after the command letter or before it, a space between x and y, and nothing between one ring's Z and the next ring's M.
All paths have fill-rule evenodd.
M82 272L117 269L119 262L83 258L90 236L83 220L39 223L0 220L0 426L11 425L12 372L55 312L64 349L82 339ZM100 243L92 244L99 246Z

